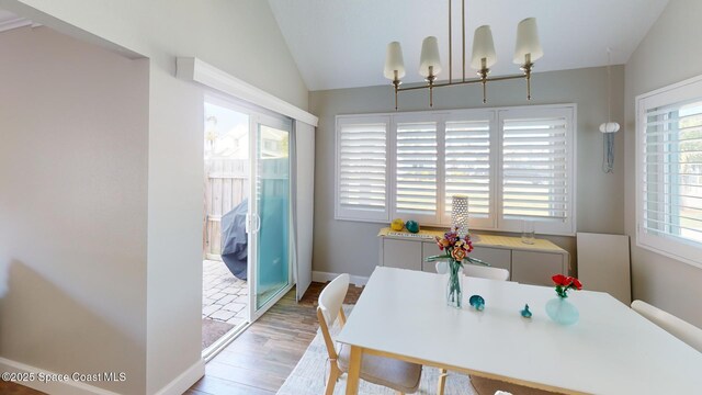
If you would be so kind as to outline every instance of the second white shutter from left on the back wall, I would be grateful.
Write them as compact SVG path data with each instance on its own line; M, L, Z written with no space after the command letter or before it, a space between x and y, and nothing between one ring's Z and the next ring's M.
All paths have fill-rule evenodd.
M437 222L437 123L398 122L395 214Z

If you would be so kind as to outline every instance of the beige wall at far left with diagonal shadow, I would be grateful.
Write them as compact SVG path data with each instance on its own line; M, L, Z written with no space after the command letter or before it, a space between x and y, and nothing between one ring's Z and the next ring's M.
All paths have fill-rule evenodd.
M148 61L0 34L0 357L146 385Z

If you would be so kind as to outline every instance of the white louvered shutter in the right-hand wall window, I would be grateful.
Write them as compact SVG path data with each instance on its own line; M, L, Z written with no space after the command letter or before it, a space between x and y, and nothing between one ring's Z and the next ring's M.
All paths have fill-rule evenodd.
M648 109L643 131L644 232L702 247L702 101Z

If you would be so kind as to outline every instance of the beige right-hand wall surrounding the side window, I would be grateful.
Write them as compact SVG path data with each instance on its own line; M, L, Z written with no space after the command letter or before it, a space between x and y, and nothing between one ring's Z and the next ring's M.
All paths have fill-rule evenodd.
M702 269L663 257L635 245L635 112L636 95L702 74L702 1L670 0L626 64L626 233L632 237L632 292L702 327ZM699 262L702 262L702 253Z

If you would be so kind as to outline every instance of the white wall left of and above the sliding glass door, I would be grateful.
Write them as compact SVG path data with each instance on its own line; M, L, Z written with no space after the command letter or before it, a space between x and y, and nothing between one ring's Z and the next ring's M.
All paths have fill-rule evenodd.
M195 56L307 109L307 89L261 0L0 0L0 7L150 59L146 385L152 394L200 361L204 89L177 80L177 56ZM122 50L123 49L123 50ZM123 215L129 215L124 211ZM131 295L129 283L122 283ZM135 361L135 363L137 363Z

